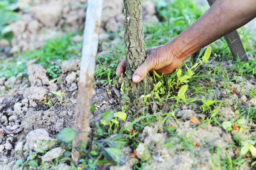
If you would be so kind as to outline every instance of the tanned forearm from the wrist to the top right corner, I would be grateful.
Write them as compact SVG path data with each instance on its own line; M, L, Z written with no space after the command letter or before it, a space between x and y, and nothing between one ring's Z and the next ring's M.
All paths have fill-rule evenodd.
M216 0L209 10L166 46L185 60L199 49L256 17L256 0Z

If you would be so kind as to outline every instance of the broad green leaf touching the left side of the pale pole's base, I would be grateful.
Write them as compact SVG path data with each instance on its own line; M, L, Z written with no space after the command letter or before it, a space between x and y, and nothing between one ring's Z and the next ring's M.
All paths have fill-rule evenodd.
M60 141L70 143L71 141L73 141L77 134L79 134L79 132L77 132L76 130L73 130L71 128L64 128L63 130L61 130L60 133L58 133L58 135L56 135L56 138Z

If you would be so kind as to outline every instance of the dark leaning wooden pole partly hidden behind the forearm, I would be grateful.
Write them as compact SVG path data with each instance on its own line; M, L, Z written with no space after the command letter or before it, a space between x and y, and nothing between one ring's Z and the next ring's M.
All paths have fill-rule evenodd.
M209 6L212 6L215 0L207 0L207 2L209 3ZM248 61L244 46L236 30L225 35L224 38L227 41L227 44L229 45L228 47L234 58L239 57L241 61Z

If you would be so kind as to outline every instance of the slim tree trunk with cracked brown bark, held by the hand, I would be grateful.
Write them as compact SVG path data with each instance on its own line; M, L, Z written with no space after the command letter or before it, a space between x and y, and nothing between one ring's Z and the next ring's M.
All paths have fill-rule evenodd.
M144 34L143 34L143 18L141 0L123 0L124 14L125 14L125 58L126 58L126 75L129 80L132 79L133 73L138 66L140 66L146 58L144 47ZM130 81L127 80L129 84ZM140 83L130 86L132 93L130 96L138 96L144 94L145 90L150 91L150 84L152 78L148 75ZM147 83L148 82L148 83Z

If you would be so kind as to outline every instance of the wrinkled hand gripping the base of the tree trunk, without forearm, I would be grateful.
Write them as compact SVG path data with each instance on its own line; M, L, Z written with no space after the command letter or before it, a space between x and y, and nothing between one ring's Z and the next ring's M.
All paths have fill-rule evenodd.
M181 66L183 61L173 52L169 50L166 44L162 46L154 46L146 49L147 58L145 61L134 71L132 81L138 83L145 78L145 75L152 70L159 73L170 74ZM123 59L116 69L116 75L125 75L126 61ZM120 81L119 81L120 82Z

